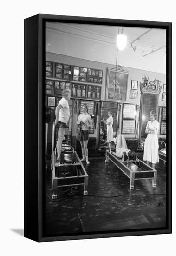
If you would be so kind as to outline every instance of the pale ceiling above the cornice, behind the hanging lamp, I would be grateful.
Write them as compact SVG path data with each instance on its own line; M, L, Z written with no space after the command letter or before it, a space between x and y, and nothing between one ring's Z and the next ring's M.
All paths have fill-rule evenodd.
M65 33L77 34L80 36L85 35L88 38L95 38L96 40L105 40L108 42L115 43L118 32L122 32L122 27L116 26L101 26L101 25L86 25L86 24L72 24L72 23L47 23L46 27L59 30ZM140 39L133 43L133 47L136 46L137 50L144 51L144 54L150 53L151 51L157 50L161 47L162 49L155 52L155 54L166 54L166 30L165 29L151 29L140 28L140 27L123 27L123 34L127 36L128 44L127 47L131 47L131 42ZM146 34L144 34L146 33ZM143 35L144 34L144 35Z

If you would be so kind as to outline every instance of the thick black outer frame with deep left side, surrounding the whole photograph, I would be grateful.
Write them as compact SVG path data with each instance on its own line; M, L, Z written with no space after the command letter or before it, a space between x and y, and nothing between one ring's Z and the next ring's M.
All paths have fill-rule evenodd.
M45 22L102 24L107 26L164 28L167 33L167 180L166 226L156 229L125 229L84 234L46 236L43 231L45 193ZM24 236L38 242L86 238L168 234L172 232L172 23L116 20L38 14L25 19L25 90L24 90ZM48 71L47 71L48 72ZM35 92L35 93L33 93ZM32 100L31 100L32 99ZM33 125L31 123L33 120Z

